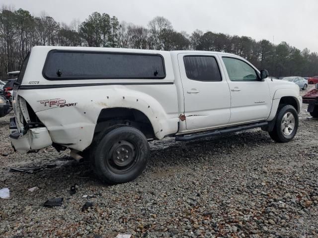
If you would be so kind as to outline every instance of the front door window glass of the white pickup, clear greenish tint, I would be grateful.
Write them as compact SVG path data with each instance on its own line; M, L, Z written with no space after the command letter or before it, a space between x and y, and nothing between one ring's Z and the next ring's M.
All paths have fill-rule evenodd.
M246 62L228 57L223 57L223 61L231 81L258 80L255 70Z

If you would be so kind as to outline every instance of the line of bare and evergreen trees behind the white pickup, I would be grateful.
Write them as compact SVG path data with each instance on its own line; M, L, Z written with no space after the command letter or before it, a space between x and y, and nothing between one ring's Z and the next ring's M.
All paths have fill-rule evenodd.
M71 24L57 22L42 13L33 16L24 9L0 10L0 78L19 70L33 46L118 47L151 50L202 50L239 55L272 76L318 75L318 54L303 51L286 42L278 45L268 40L231 36L195 30L191 34L173 29L171 22L156 16L147 25L119 22L116 16L93 12L85 21Z

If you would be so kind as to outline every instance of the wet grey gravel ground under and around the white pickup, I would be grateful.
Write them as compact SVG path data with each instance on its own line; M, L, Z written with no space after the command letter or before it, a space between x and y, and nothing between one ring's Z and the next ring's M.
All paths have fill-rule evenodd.
M318 120L306 109L286 144L260 129L152 142L147 170L113 186L68 151L14 153L8 115L0 119L0 188L10 189L10 198L0 199L0 237L318 237ZM8 171L48 162L58 166L36 174ZM75 183L78 191L70 195ZM34 186L39 190L27 190ZM61 207L43 207L55 197L64 198ZM93 207L82 212L86 201Z

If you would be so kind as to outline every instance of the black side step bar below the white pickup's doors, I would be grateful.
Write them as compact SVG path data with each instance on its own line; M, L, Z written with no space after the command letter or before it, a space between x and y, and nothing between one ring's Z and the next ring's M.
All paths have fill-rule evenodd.
M213 130L213 131L191 134L191 135L176 135L175 140L176 141L195 140L195 139L201 139L201 138L206 138L206 137L212 137L212 136L216 136L216 135L223 135L223 134L230 133L230 132L237 132L237 131L241 131L241 130L253 129L253 128L262 127L262 126L266 126L266 125L268 125L268 122L263 121L263 122L245 124L245 125L226 127L223 129L217 129L217 130Z

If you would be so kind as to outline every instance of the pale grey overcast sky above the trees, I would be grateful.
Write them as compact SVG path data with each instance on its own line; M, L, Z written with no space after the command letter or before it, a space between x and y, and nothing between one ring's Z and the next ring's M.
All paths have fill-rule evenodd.
M45 11L59 22L80 21L94 11L147 26L164 16L177 31L195 29L286 41L318 52L318 0L0 0L0 5ZM274 38L273 38L274 37Z

